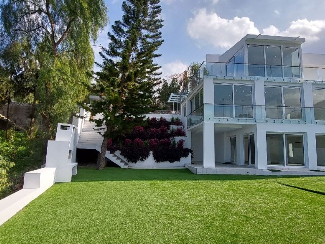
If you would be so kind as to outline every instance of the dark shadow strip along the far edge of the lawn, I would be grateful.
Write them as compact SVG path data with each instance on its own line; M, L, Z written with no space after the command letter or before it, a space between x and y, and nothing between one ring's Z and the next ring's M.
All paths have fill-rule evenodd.
M77 175L73 175L72 182L89 181L144 181L144 180L261 180L279 178L301 178L311 176L301 175L197 175L188 169L122 169L95 167L78 167Z

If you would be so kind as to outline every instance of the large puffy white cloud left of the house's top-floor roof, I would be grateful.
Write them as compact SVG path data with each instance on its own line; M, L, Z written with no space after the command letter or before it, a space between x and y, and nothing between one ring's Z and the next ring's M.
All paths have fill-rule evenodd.
M187 33L201 43L229 48L246 34L259 34L259 31L248 17L223 19L203 8L189 19Z

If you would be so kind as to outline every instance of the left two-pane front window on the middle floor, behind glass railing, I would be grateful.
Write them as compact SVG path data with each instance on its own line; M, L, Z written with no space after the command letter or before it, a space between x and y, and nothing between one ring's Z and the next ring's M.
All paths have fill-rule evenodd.
M214 85L214 116L253 118L251 85Z

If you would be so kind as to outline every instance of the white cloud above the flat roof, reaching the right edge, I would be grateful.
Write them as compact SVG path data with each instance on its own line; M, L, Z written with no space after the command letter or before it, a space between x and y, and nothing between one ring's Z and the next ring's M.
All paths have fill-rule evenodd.
M274 36L288 36L288 37L304 37L306 40L317 41L319 40L319 34L325 30L325 20L307 20L298 19L291 22L289 28L285 31L279 31L279 29L273 25L263 29L264 35Z

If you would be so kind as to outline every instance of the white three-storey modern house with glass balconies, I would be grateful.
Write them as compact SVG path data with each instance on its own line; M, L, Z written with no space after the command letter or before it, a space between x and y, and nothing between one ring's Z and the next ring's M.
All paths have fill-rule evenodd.
M246 35L206 56L181 93L194 163L325 170L325 55L304 42Z

